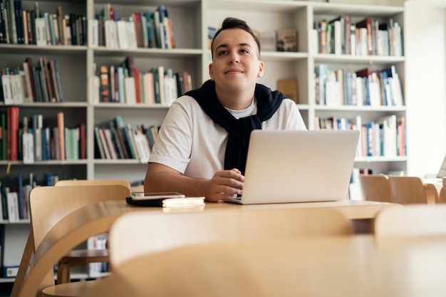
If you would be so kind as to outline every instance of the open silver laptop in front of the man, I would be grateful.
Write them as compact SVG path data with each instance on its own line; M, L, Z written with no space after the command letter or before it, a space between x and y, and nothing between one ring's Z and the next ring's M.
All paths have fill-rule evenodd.
M358 130L254 130L243 194L228 202L346 199L358 140Z

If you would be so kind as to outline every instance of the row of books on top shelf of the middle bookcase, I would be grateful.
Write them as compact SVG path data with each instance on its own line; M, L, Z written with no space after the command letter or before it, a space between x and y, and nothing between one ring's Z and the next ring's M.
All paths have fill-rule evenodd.
M88 21L88 45L107 48L175 48L169 11L160 5L154 11L136 11L119 17L105 4L95 19Z

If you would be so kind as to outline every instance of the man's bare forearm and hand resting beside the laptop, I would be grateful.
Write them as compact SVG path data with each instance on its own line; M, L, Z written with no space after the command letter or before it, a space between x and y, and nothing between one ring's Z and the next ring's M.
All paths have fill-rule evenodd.
M145 174L145 192L180 192L186 196L204 196L207 201L227 200L242 194L244 176L237 169L221 170L212 179L187 177L160 163L149 163Z

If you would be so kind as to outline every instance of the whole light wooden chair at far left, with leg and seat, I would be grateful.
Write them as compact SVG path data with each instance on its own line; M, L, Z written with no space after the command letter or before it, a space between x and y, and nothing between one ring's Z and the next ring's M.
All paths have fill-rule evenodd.
M130 188L122 184L36 187L29 194L31 233L22 256L19 272L11 292L11 297L21 296L21 286L26 282L26 271L32 262L32 255L48 231L63 217L89 204L107 200L125 199ZM54 285L53 270L48 271L44 280L38 284L40 296L80 296L80 288L90 281ZM60 290L58 286L63 286ZM23 296L28 297L28 296Z

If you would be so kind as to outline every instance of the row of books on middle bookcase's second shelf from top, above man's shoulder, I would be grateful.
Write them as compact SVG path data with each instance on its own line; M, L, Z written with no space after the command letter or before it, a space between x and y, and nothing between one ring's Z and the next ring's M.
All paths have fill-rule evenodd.
M145 103L170 106L179 95L192 89L187 71L173 73L158 66L142 73L128 57L119 66L100 66L91 78L90 98L93 103Z

